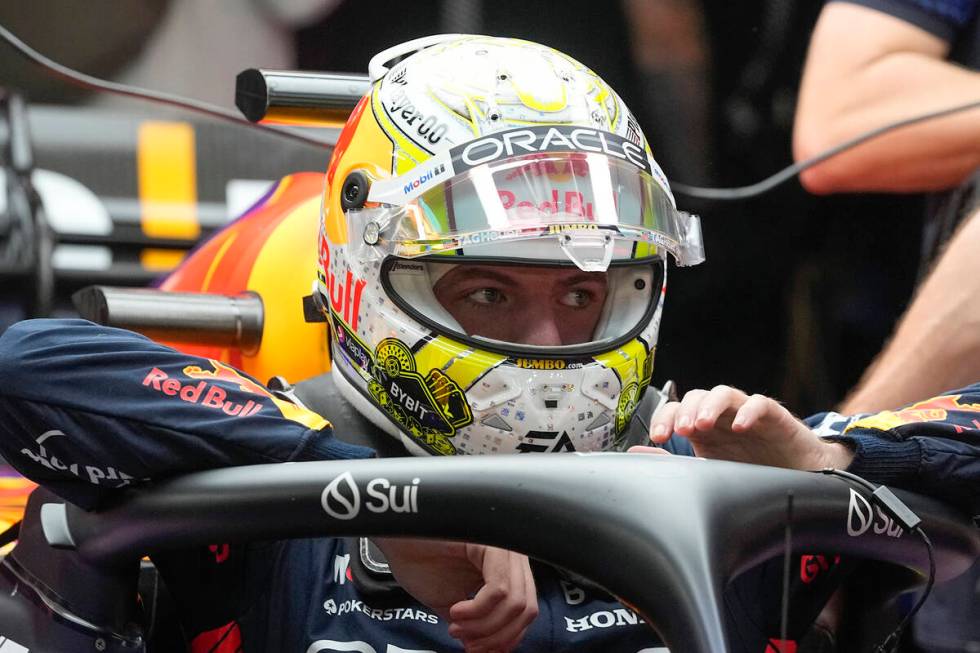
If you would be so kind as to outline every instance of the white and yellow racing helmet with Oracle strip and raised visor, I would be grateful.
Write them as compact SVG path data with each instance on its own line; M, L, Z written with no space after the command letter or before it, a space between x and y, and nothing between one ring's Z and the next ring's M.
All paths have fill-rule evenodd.
M666 254L703 260L636 119L527 41L426 37L369 70L327 170L314 289L339 391L417 455L615 447L650 383ZM600 275L591 335L467 332L434 287L478 265Z

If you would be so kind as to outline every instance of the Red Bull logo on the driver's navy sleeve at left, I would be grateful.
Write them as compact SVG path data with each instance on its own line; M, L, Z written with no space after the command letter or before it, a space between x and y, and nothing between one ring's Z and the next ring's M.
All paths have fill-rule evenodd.
M243 392L271 397L268 390L251 379L239 374L233 368L217 361L211 361L213 370L204 370L197 365L188 365L183 372L191 379L201 379L197 383L184 383L172 378L158 367L154 367L143 379L143 385L169 397L179 397L190 404L200 404L220 410L231 417L248 417L262 410L262 404L249 399L241 403L230 401L228 391L213 381L224 381L237 385Z

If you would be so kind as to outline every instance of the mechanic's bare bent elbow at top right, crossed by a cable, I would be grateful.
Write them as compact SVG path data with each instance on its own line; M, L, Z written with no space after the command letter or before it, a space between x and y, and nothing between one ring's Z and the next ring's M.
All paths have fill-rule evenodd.
M899 18L830 2L810 42L793 134L797 161L887 123L980 101L980 72ZM814 193L956 186L980 166L980 109L905 127L800 175Z

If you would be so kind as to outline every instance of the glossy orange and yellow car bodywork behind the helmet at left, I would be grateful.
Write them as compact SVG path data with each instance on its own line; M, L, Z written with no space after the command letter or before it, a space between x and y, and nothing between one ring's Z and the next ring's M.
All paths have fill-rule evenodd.
M257 351L171 344L175 349L228 363L266 381L290 382L330 368L327 327L303 319L303 297L316 278L320 173L282 179L240 218L193 250L160 285L163 290L237 294L262 298L264 328ZM17 522L36 484L0 464L0 531Z

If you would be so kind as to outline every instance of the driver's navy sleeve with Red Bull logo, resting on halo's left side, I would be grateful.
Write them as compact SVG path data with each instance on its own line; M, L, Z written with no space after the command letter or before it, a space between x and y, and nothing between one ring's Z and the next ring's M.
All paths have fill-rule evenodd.
M0 336L0 453L83 508L136 480L371 455L224 363L84 320Z

